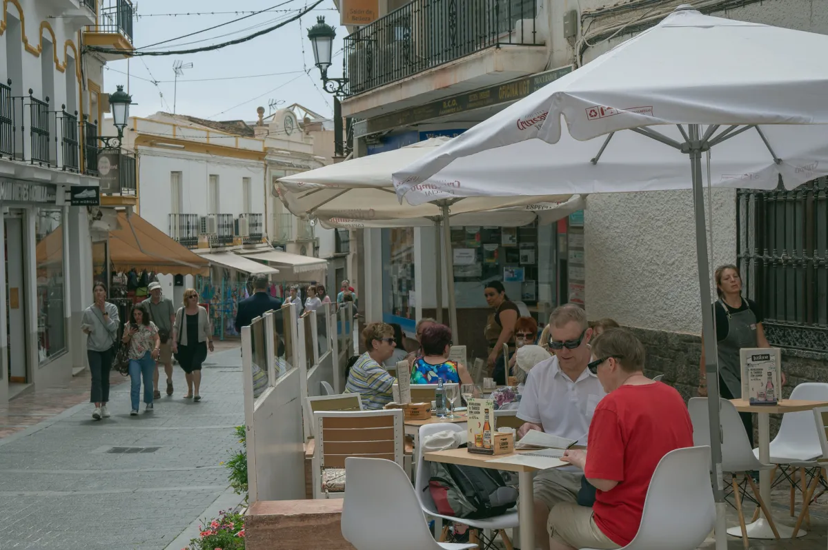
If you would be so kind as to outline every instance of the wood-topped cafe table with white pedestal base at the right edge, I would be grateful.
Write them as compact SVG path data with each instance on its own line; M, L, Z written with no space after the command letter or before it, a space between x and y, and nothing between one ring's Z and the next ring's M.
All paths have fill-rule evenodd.
M744 399L731 399L730 402L734 404L734 407L739 411L739 413L756 413L758 415L759 462L762 462L763 464L771 463L771 414L797 413L817 409L819 407L828 407L828 401L806 401L803 399L781 399L775 405L752 405ZM773 506L770 505L772 481L770 471L759 472L759 494L762 495L762 499L768 503L768 509L773 509ZM793 534L792 527L780 524L778 521L775 523L780 538L791 538ZM754 521L752 524L748 524L747 528L748 538L775 538L773 536L773 531L770 528L770 524L768 524L768 521L764 519L761 514L759 519ZM729 528L727 532L734 537L742 536L742 530L739 527ZM802 537L805 534L805 531L800 529L799 533L797 533L797 537Z

